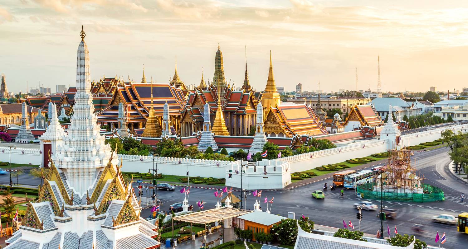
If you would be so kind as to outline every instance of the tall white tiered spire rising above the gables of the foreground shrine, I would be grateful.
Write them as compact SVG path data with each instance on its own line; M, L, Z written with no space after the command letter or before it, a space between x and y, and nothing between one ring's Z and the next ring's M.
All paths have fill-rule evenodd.
M104 144L105 137L99 134L97 117L94 114L91 80L89 75L88 46L83 39L78 45L76 60L76 94L68 135L63 144L52 155L55 166L66 174L70 186L82 198L93 185L96 172L109 162L110 145ZM59 117L60 118L60 117ZM112 164L118 163L117 155Z

